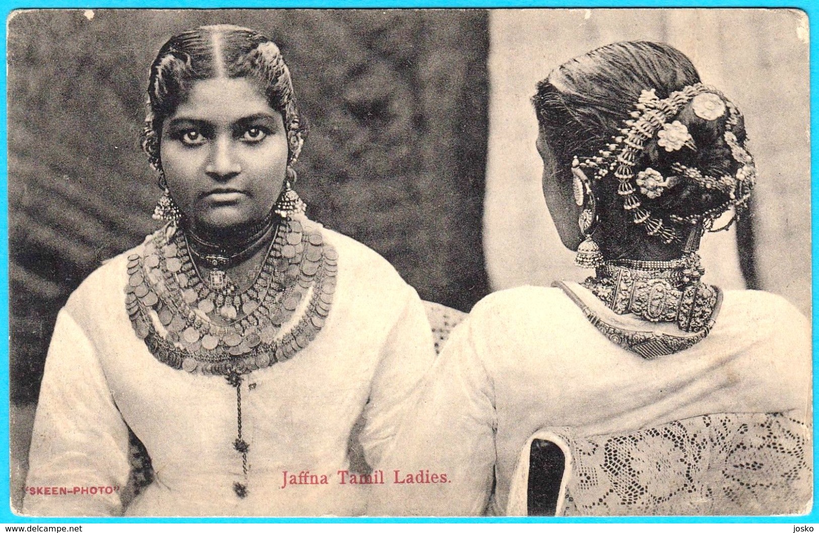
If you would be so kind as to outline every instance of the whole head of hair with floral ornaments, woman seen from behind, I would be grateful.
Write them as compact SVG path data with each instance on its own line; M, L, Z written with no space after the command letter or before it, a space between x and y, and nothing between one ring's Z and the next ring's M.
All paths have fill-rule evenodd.
M597 48L553 70L533 102L557 168L577 156L594 175L598 223L613 234L626 223L679 242L749 199L755 170L742 115L674 47Z

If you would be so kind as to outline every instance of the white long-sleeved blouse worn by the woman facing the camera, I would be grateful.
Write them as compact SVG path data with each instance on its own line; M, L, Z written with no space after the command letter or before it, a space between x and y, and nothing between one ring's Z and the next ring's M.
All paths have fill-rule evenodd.
M138 247L92 273L60 311L34 422L24 512L362 513L361 486L349 477L341 482L351 430L363 415L365 458L380 462L435 352L421 300L395 269L348 237L321 233L339 256L324 327L292 359L248 374L241 385L242 435L249 445L245 498L233 490L243 476L242 455L233 448L236 389L224 376L161 363L133 331L124 287L126 258ZM122 509L128 427L146 446L156 479ZM301 472L319 484L293 485L289 476ZM32 487L56 488L57 495L32 495ZM71 494L61 495L62 487ZM102 490L83 490L89 487Z

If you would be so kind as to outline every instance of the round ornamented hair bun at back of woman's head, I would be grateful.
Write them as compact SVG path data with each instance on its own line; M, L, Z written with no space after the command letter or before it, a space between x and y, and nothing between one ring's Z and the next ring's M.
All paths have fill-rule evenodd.
M722 93L704 84L666 98L643 90L628 116L614 142L581 166L594 168L599 179L613 170L616 202L649 235L679 240L681 226L716 219L747 201L753 160L744 148L742 115Z

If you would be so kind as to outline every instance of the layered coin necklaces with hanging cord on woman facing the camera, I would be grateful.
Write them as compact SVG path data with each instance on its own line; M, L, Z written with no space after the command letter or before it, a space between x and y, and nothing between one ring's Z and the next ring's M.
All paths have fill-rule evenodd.
M275 221L275 219L274 219ZM247 495L242 436L242 382L247 373L292 358L310 345L328 318L336 290L338 254L319 224L282 219L260 268L243 288L225 269L260 250L269 220L242 250L215 248L171 223L129 255L125 305L133 330L161 363L188 373L224 376L236 389L237 438ZM233 246L231 247L233 248ZM212 270L202 276L192 255Z

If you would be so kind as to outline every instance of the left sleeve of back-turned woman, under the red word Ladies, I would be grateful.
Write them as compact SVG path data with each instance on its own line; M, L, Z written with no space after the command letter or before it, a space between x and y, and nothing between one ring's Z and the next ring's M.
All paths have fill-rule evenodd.
M417 403L377 463L385 484L372 487L368 514L486 513L495 469L494 396L468 318L452 332Z

